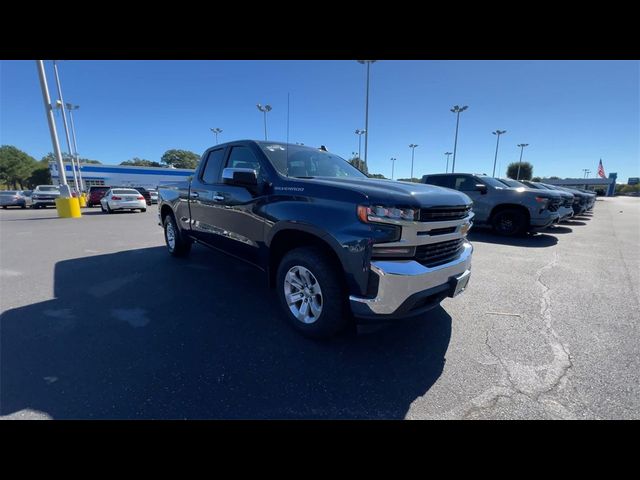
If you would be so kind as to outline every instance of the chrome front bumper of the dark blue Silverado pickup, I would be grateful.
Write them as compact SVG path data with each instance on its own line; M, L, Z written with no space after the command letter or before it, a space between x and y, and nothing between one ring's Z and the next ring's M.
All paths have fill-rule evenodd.
M456 280L469 275L472 252L473 246L465 242L458 258L432 268L414 260L374 260L371 271L378 276L376 297L351 295L351 310L359 318L400 317L405 316L404 313L408 316L419 313L407 305L411 299L423 302L424 308L432 308L436 305L430 305L429 300L439 303L442 298L453 295Z

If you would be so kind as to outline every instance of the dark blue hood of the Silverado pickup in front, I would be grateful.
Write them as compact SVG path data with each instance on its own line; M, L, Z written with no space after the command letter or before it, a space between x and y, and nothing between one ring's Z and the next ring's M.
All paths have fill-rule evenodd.
M471 199L462 192L424 183L333 177L314 177L309 181L334 188L355 190L366 195L372 205L426 208L471 205L472 203Z

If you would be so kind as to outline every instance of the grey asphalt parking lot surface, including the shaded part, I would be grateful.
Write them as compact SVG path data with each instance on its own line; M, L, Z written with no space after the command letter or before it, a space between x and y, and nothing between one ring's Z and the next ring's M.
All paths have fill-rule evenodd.
M467 291L302 338L251 267L164 248L157 208L0 211L0 418L640 418L640 199L472 231Z

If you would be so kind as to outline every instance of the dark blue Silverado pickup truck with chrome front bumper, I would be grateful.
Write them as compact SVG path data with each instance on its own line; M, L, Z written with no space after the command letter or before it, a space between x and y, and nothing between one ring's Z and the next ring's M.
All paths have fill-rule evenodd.
M469 281L473 212L454 190L370 179L323 148L242 140L158 189L169 253L193 242L266 273L289 323L326 338L437 306Z

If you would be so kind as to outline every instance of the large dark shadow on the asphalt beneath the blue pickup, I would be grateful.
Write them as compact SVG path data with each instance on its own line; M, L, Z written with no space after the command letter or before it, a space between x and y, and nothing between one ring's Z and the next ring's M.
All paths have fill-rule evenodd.
M404 418L451 337L438 308L307 340L262 275L200 246L188 259L154 247L64 260L54 275L54 299L0 316L0 415Z

